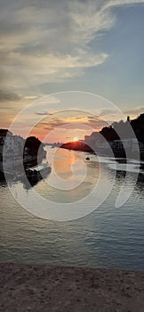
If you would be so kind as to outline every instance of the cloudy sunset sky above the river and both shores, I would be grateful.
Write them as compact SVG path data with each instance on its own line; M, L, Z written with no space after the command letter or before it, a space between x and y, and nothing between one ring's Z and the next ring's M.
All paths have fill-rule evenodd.
M143 16L144 0L0 0L0 127L10 127L21 110L52 94L51 110L49 102L40 101L33 112L52 114L47 127L37 121L31 129L46 135L64 123L52 105L57 103L59 111L60 98L54 94L68 90L99 94L131 118L144 112ZM76 108L86 110L86 101L78 101ZM91 126L90 116L81 115L79 122ZM115 118L110 110L103 116L104 123ZM71 118L68 113L62 117L74 124ZM100 129L103 123L97 122ZM21 120L18 134L25 135L26 123ZM72 132L67 137L84 132L77 124L76 129L67 129Z

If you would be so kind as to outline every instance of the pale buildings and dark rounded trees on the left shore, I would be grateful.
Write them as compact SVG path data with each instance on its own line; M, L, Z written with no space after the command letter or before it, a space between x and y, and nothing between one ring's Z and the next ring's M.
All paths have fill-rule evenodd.
M0 129L0 171L20 166L35 166L45 157L44 144L35 136L26 140L20 135L12 135L7 129Z

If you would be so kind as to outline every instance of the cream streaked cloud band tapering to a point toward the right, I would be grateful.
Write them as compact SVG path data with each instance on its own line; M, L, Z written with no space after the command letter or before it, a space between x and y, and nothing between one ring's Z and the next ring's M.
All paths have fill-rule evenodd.
M3 70L9 68L9 81L6 83L23 86L36 86L60 78L71 78L83 74L83 70L100 65L108 58L107 53L93 54L79 49L76 54L54 55L53 53L28 54L7 53Z

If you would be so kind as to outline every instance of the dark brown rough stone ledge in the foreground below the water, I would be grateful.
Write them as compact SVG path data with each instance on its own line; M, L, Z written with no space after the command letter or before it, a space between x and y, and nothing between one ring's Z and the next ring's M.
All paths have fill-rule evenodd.
M0 311L144 312L144 272L0 264Z

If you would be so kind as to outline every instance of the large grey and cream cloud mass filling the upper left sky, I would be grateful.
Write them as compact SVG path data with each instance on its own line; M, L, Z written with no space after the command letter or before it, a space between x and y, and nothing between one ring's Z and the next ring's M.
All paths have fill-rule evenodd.
M108 59L92 40L111 29L114 6L144 0L6 0L1 12L1 86L42 86L84 75Z

